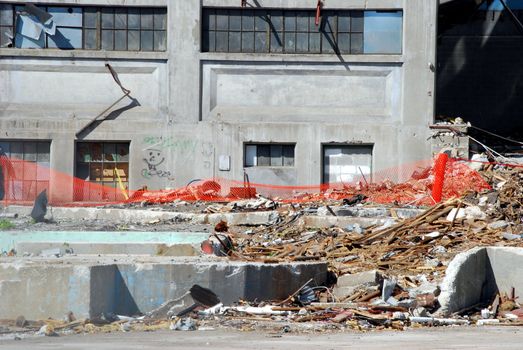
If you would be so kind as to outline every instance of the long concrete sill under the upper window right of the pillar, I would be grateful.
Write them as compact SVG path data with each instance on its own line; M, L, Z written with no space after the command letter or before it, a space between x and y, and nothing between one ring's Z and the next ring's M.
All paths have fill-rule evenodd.
M342 63L398 63L405 61L403 55L337 55L324 54L269 54L202 52L202 61L273 61L273 62L342 62Z

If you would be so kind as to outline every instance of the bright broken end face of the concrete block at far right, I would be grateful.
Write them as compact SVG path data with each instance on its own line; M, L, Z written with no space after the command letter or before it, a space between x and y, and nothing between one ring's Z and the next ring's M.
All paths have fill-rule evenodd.
M480 281L478 285L478 283L473 283L473 280L485 279L487 264L488 256L485 247L476 247L459 253L452 259L447 267L445 278L440 285L441 293L438 301L441 308L438 310L438 315L447 317L477 302L475 300L476 295L478 292L481 294L483 281ZM474 274L475 269L479 270L480 275ZM463 285L464 283L466 285ZM476 293L471 293L472 291L466 290L468 286L473 289L475 288Z

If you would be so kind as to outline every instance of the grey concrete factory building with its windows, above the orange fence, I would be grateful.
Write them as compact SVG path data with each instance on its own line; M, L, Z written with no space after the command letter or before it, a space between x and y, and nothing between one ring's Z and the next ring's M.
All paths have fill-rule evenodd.
M428 159L437 8L1 1L0 147L130 189L244 171L273 185L350 181Z

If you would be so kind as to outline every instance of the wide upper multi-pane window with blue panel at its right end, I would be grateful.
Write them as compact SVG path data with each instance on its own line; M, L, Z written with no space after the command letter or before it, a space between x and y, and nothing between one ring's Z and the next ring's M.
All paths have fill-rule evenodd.
M402 11L204 8L203 52L401 54Z

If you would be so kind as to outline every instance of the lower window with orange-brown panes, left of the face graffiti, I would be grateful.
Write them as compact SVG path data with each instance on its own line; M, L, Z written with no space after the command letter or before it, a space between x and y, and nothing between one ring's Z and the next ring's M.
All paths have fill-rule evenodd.
M128 188L129 143L77 143L75 177L84 180L75 182L75 200L116 200L118 191L104 188Z

